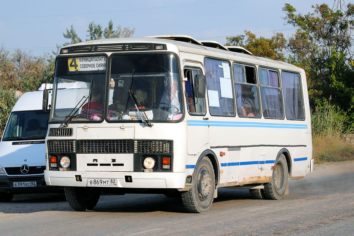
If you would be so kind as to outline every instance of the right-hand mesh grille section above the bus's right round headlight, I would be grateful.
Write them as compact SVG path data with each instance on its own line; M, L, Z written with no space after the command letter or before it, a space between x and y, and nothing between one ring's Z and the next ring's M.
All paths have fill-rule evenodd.
M135 153L164 153L172 154L172 140L135 140Z

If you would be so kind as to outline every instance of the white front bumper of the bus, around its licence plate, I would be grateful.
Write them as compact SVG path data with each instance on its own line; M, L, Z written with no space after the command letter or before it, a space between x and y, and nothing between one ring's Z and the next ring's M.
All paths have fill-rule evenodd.
M89 179L116 179L116 185L97 185L97 187L158 189L185 187L184 172L44 171L44 176L47 185L56 186L86 187L89 186Z

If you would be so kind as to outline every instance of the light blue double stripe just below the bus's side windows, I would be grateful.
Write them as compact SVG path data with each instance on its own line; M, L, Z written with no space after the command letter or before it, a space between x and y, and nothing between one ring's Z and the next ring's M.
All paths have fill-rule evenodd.
M218 127L259 127L259 128L288 128L307 129L307 125L299 124L279 124L264 122L235 122L235 121L197 121L187 120L188 126L218 126Z

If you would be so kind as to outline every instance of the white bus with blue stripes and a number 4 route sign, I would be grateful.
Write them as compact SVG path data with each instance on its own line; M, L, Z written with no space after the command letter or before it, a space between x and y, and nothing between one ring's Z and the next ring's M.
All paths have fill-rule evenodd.
M57 107L62 82L87 85L75 105ZM46 183L80 211L101 193L178 195L196 213L218 188L281 199L313 168L304 70L185 35L59 48L48 134Z

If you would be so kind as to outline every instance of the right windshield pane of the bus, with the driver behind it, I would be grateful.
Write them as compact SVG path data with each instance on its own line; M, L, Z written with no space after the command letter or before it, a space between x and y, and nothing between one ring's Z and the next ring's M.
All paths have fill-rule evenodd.
M149 120L182 118L178 63L170 54L132 54L112 57L107 119L139 120L138 104ZM138 109L137 109L138 108ZM145 117L144 117L145 118Z

